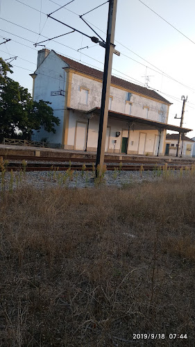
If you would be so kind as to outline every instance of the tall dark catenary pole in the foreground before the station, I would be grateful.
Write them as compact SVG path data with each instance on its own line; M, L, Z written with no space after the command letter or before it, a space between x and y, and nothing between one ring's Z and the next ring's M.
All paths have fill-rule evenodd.
M108 124L108 103L110 96L110 83L111 83L111 71L112 71L112 57L115 51L115 22L117 14L117 0L109 0L108 10L108 26L107 26L107 37L105 44L105 60L104 60L104 71L103 71L103 85L101 94L101 110L100 110L100 121L99 121L99 138L96 154L96 177L98 176L97 166L99 165L99 175L104 162L105 153L105 137Z

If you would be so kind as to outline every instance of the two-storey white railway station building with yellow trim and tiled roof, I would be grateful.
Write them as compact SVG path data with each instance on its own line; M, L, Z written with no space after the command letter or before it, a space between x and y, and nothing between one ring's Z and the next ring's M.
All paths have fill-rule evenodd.
M33 78L33 99L51 102L60 119L56 134L34 132L62 149L96 151L103 72L55 51L38 51ZM168 124L171 103L154 90L112 76L105 152L164 155L166 132L191 129Z

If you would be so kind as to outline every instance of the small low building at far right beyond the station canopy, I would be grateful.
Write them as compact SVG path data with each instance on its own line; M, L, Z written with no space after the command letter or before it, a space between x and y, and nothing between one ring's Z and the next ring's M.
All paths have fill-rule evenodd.
M176 156L176 151L178 148L178 137L179 134L167 134L166 135L166 147L165 155ZM182 149L183 145L183 149ZM189 139L189 137L181 135L180 146L178 151L178 156L180 157L181 151L183 157L192 157L194 146L194 139Z

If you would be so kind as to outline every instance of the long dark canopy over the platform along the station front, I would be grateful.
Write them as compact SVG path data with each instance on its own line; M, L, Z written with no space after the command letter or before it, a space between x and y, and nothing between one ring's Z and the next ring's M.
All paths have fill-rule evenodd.
M77 112L83 112L86 115L90 115L91 113L94 113L95 115L100 115L100 108L92 108L92 110L85 111L85 110L78 110L76 108L67 108L67 110L74 110ZM192 131L192 129L183 128L180 126L173 126L171 124L161 123L160 121L152 121L151 119L145 119L141 117L135 117L131 115L126 115L125 113L115 112L115 111L108 111L108 117L110 118L116 118L121 119L124 121L129 121L130 123L139 123L139 124L145 124L147 126L153 126L158 129L166 129L166 130L172 130L172 131L178 131L178 133L189 133L189 131Z

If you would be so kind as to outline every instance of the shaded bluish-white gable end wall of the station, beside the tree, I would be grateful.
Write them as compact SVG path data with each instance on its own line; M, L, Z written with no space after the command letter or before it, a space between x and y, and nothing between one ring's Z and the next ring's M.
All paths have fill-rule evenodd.
M62 143L65 96L51 96L51 92L65 91L67 73L62 69L65 65L66 63L51 51L40 67L37 68L37 71L35 71L37 76L34 82L34 100L51 102L50 106L53 108L53 115L60 118L60 126L56 126L56 134L47 133L44 129L41 129L40 132L34 130L33 139L35 141L46 137L51 143Z

